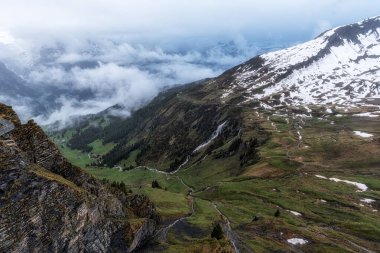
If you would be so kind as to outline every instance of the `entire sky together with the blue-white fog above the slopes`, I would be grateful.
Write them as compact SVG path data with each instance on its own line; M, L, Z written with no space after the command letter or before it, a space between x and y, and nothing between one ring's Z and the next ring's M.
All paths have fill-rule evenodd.
M312 5L303 0L4 1L0 62L8 80L18 81L4 84L0 99L24 120L34 117L41 124L115 104L128 116L167 87L215 77L257 54L375 16L380 1Z

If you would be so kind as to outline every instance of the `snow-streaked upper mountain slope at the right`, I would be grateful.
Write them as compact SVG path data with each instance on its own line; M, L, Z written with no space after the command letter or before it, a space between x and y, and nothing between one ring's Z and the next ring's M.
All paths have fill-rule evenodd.
M380 98L380 17L329 30L226 73L224 101L243 93L244 102L264 107L368 104Z

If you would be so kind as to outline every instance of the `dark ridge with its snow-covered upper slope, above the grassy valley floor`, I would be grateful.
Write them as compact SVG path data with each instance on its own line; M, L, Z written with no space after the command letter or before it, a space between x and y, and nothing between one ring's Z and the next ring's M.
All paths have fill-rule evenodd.
M380 18L373 18L255 57L200 85L164 92L129 119L115 120L104 129L87 128L69 144L84 150L100 137L118 144L105 155L108 165L139 149L142 164L169 169L183 162L224 121L229 129L224 138L235 136L246 107L309 116L355 107L350 110L376 116L379 31ZM170 148L163 148L167 143Z

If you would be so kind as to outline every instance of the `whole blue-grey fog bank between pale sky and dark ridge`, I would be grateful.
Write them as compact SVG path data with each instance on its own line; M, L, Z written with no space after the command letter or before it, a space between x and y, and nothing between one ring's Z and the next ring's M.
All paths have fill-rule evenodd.
M216 76L260 51L241 38L185 52L115 39L77 43L29 51L18 51L17 42L3 45L11 55L1 60L12 83L2 99L24 119L34 116L42 124L97 113L115 104L124 106L118 113L128 116L162 89ZM17 93L26 88L33 92ZM16 95L27 99L16 99ZM36 101L45 108L37 108Z

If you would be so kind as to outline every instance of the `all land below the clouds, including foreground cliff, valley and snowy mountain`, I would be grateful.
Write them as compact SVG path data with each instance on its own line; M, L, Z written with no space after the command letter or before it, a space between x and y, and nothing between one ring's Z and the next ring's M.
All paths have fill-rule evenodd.
M0 251L379 252L380 17L118 110L4 116Z

